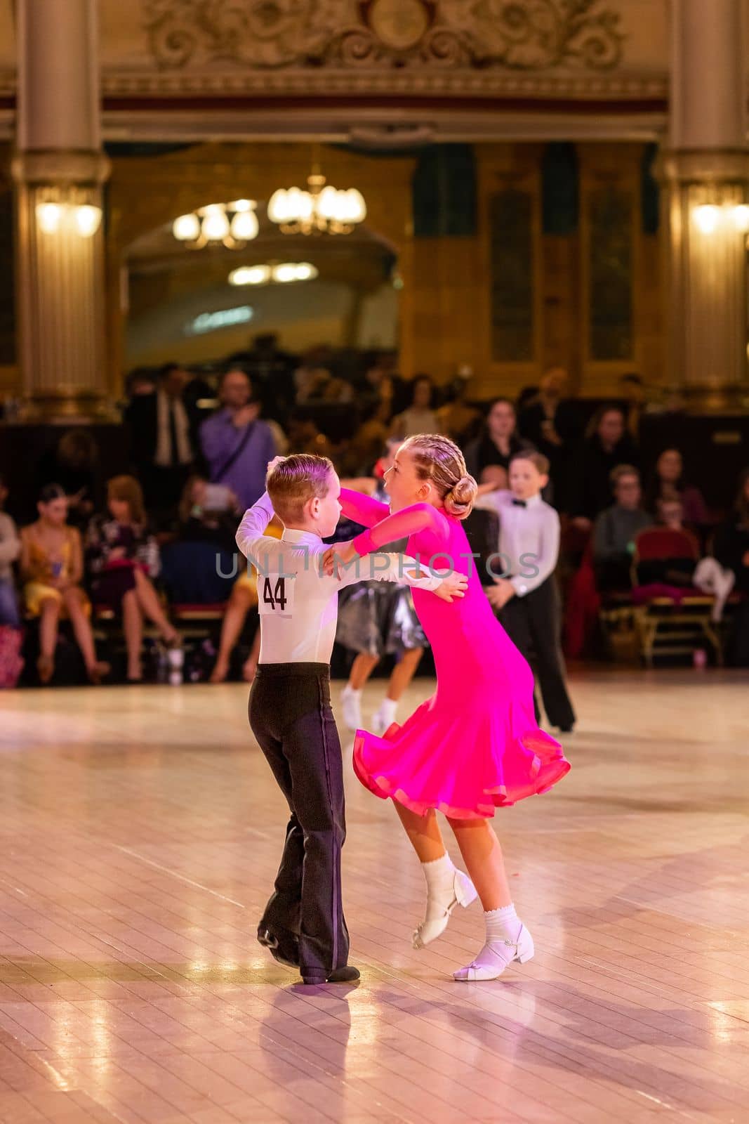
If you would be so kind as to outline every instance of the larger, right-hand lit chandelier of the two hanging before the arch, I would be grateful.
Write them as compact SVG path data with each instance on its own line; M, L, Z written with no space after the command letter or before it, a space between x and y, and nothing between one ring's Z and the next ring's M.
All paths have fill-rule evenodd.
M331 187L317 166L307 190L278 188L268 201L268 218L283 234L350 234L366 214L360 191Z

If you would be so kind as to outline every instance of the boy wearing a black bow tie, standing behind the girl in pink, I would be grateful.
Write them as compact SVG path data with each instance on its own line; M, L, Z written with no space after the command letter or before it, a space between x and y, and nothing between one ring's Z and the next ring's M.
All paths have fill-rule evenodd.
M575 725L575 711L565 682L559 644L561 614L554 579L559 558L559 516L541 499L548 481L546 456L523 451L510 461L510 490L484 492L474 506L490 508L500 517L497 549L505 572L494 578L486 596L510 638L533 668L547 718L568 733Z

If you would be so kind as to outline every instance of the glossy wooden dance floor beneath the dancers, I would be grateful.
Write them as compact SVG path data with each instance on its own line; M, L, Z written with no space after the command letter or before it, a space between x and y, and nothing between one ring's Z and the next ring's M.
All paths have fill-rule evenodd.
M450 977L477 905L411 949L422 876L349 768L348 989L255 942L285 814L244 687L2 694L0 1121L749 1121L747 677L573 691L572 773L496 816L537 949L496 982Z

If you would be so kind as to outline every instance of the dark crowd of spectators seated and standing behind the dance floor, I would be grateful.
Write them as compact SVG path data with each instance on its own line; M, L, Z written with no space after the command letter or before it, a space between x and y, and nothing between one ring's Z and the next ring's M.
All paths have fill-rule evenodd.
M748 471L716 486L693 456L687 470L677 414L657 441L643 439L651 408L636 374L597 402L570 397L558 368L518 398L476 402L468 387L462 375L441 387L426 373L407 381L390 353L320 346L293 356L273 336L217 369L130 372L121 426L106 439L97 427L56 427L34 464L6 464L0 681L15 682L21 662L21 681L64 681L65 644L94 682L252 678L256 592L234 533L267 462L313 452L341 479L372 477L389 438L415 433L451 437L476 480L496 488L518 451L548 459L570 654L596 651L591 604L654 583L683 593L696 573L698 588L730 604L730 660L749 664ZM481 535L478 513L476 523ZM638 560L637 537L651 526L688 538L691 551Z

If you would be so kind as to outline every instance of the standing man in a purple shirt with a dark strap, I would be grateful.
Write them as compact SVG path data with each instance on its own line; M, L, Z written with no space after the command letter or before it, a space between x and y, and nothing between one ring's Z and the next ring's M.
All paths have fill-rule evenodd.
M219 387L221 409L200 427L200 445L211 483L226 484L241 509L252 507L265 491L268 461L276 455L271 427L258 418L259 404L249 375L229 368Z

